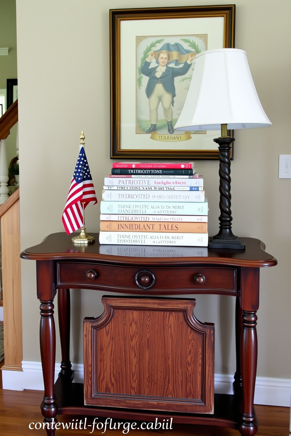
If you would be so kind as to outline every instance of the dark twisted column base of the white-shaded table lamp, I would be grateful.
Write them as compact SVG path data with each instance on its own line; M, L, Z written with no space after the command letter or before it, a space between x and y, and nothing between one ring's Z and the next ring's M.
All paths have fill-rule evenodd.
M245 244L242 238L233 235L231 229L231 194L230 194L230 146L234 138L222 136L214 139L219 144L219 232L209 238L209 248L244 249Z

